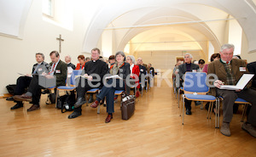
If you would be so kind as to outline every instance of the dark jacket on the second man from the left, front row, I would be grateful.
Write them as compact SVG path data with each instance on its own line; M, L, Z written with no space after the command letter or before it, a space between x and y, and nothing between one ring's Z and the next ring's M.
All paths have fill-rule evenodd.
M49 63L49 66L50 70L52 62ZM65 86L67 79L67 64L60 60L60 62L56 66L54 75L56 76L56 86Z

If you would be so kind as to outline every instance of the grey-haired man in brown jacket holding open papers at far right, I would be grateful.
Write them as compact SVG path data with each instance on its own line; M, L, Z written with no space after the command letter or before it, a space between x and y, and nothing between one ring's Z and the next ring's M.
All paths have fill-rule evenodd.
M256 91L251 88L251 82L243 90L224 90L219 89L224 83L226 85L236 85L237 81L244 73L248 73L247 65L244 60L232 59L234 53L234 45L224 44L220 49L220 59L213 61L208 65L208 74L215 74L218 80L213 82L210 94L213 96L221 96L223 100L223 123L220 132L225 136L230 136L230 122L233 117L233 104L236 98L243 98L247 102L252 103L252 107L247 115L247 122L244 122L241 128L256 137Z

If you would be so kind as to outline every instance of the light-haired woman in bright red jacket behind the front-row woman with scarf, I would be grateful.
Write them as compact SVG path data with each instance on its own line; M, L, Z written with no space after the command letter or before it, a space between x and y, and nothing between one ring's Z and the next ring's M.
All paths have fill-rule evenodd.
M131 81L130 82L137 83L137 89L139 89L140 82L139 82L138 76L140 75L140 68L137 64L135 64L135 58L132 55L127 56L126 62L128 64L130 64L130 70L131 70L131 76L130 76ZM130 94L130 90L127 90L127 94Z

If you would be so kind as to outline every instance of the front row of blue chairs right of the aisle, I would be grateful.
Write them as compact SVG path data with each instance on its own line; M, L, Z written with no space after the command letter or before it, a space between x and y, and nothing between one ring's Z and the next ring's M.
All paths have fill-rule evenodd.
M219 127L219 116L220 116L219 102L220 100L223 100L223 98L207 95L207 93L209 92L209 87L207 87L206 82L207 82L207 73L205 72L186 72L185 73L183 87L178 87L178 90L176 93L178 95L177 104L179 108L180 92L183 91L183 95L182 95L183 105L180 108L180 115L181 115L181 112L183 113L182 124L184 124L184 99L187 98L188 100L192 100L192 101L210 102L208 112L207 112L207 119L211 119L213 102L216 102L215 128ZM176 92L176 90L174 90L174 92ZM247 105L249 105L250 103L242 98L237 98L235 103L244 104L244 109L241 115L241 121L244 121Z

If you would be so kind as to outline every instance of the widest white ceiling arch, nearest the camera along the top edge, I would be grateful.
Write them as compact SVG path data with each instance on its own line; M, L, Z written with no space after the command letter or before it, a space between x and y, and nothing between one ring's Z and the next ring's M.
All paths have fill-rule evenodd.
M133 0L131 0L131 1L133 1ZM188 4L187 7L189 7L189 5L191 5L191 4L193 4L194 6L204 5L204 6L209 6L212 8L218 8L220 11L222 11L224 13L231 14L233 16L234 16L234 14L236 14L236 16L234 16L234 17L236 17L236 19L239 20L241 27L246 32L246 34L247 34L247 32L252 32L249 29L252 29L253 26L256 26L256 23L253 23L253 21L255 21L255 18L253 18L253 17L255 17L253 10L246 3L242 2L242 1L197 0L197 1L193 1L193 3L191 3L190 0L179 0L179 1L160 0L160 1L157 1L157 3L155 1L148 2L148 1L143 1L143 0L139 1L137 3L132 3L131 1L129 3L123 3L123 2L121 3L118 1L115 2L115 6L118 5L119 9L114 9L114 8L111 9L112 6L104 6L104 8L100 8L101 11L97 13L97 15L95 16L96 18L94 19L93 22L90 23L90 27L86 31L86 35L84 36L84 48L86 48L86 45L90 48L91 44L93 44L93 46L96 46L96 42L99 41L100 36L102 35L102 31L103 31L102 28L104 28L109 23L111 23L111 21L118 18L120 14L125 14L125 13L127 13L133 9L137 9L137 8L152 8L152 6L157 6L158 8L164 8L166 6L172 6L173 8L176 8L176 7L183 8L183 6L185 6L186 4ZM230 5L231 3L232 3L232 5ZM238 13L240 14L240 12L241 12L241 8L238 9L237 7L233 7L233 5L243 7L242 16L238 15ZM204 13L204 14L206 14L206 13ZM249 20L242 19L244 17L249 18ZM245 20L246 20L246 22L244 22ZM248 25L249 23L250 23L250 25ZM216 24L213 24L213 25L216 25ZM245 29L245 28L248 28L248 29ZM214 32L214 34L216 34L215 30L212 30L212 32ZM219 34L221 34L221 33L219 33ZM256 32L251 33L251 35L250 35L251 40L248 39L250 49L252 49L252 44L250 44L250 42L255 41L255 38L256 38L255 36L253 37L252 34L255 35ZM117 35L117 36L119 36L119 35ZM223 42L221 42L221 43L223 43ZM254 47L256 47L256 46L254 46Z

